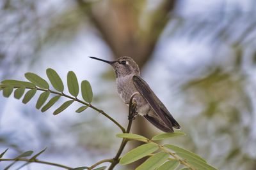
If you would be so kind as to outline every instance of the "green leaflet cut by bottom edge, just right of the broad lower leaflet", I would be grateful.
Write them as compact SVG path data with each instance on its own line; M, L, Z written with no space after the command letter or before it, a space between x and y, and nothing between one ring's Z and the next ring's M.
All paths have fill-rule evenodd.
M159 152L154 154L152 157L148 158L143 164L138 166L136 170L154 170L161 166L169 157L168 153Z

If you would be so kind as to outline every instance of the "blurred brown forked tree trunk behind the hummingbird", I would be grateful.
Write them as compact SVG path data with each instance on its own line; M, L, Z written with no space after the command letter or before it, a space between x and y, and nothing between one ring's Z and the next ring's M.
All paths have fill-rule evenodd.
M86 3L83 0L77 0L79 8L86 17L90 18L102 39L111 48L113 57L132 57L140 68L152 56L157 40L170 20L170 13L175 3L175 0L161 1L153 12L145 13L147 1L113 0L104 3L102 1ZM140 22L147 22L147 24ZM147 26L142 27L142 25ZM149 128L145 122L145 119L137 117L133 124L133 131L136 134L148 136Z

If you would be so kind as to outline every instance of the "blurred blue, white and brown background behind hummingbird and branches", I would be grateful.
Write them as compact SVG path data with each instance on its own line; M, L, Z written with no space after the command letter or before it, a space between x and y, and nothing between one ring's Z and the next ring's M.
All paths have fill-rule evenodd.
M255 7L254 0L1 0L0 78L24 80L28 71L46 78L52 67L66 80L72 70L92 84L93 104L126 126L127 106L116 94L113 70L87 56L131 56L187 134L166 143L219 169L253 170ZM6 157L47 147L40 159L78 167L115 155L120 131L102 115L90 109L77 114L79 104L73 104L53 116L61 101L45 113L35 103L36 97L26 105L0 97L0 152L10 148ZM132 132L150 137L160 131L138 117ZM0 169L8 164L0 162Z

